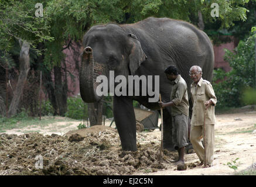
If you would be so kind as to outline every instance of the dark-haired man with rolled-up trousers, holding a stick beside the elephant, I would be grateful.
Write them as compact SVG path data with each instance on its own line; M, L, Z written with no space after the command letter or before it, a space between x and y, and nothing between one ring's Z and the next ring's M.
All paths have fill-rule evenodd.
M159 106L162 108L170 106L172 109L173 141L175 142L175 149L178 150L179 153L177 164L180 164L184 163L184 150L188 144L187 123L189 116L189 99L187 96L187 84L180 76L178 68L174 65L170 65L166 68L165 75L173 84L170 93L170 102L159 102Z

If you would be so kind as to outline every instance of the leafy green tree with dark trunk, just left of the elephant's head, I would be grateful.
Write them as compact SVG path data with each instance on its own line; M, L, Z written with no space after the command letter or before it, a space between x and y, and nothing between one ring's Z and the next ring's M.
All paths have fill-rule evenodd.
M121 1L47 1L45 15L51 18L50 33L53 41L45 43L45 81L47 91L56 111L64 116L67 111L67 68L63 50L81 43L83 34L90 26L122 20ZM63 47L66 46L66 47ZM78 64L78 63L77 63ZM78 65L77 65L78 67ZM50 71L53 69L54 82ZM63 70L63 71L62 71ZM64 77L64 78L63 78Z

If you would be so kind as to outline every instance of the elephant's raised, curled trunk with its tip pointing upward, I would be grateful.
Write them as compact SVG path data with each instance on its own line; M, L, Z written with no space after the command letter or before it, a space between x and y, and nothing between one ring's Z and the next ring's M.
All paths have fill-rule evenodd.
M86 47L81 56L80 67L80 94L84 102L94 103L100 101L102 96L98 96L96 88L100 84L96 82L98 75L104 74L105 67L94 62L93 49Z

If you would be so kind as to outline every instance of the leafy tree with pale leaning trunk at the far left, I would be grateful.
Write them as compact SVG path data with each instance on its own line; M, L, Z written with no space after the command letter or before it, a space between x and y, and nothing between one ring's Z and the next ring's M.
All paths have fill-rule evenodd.
M35 2L35 1L34 1ZM36 3L35 3L36 4ZM12 65L19 67L19 78L16 85L14 96L9 106L9 110L6 113L7 116L16 115L18 105L21 99L21 94L28 77L30 69L30 49L36 50L36 44L44 40L52 40L49 36L47 26L47 19L43 20L33 16L35 12L35 4L33 1L1 1L0 4L0 65L6 69L6 76L8 69ZM19 44L17 45L17 43ZM18 63L13 64L15 60L12 60L10 53L13 49L19 47L20 54ZM37 51L39 53L40 51ZM5 91L7 92L7 91ZM0 95L0 102L3 101L2 95ZM5 105L4 102L0 103ZM7 103L6 103L7 104ZM3 108L1 108L2 110ZM3 110L0 111L3 115Z

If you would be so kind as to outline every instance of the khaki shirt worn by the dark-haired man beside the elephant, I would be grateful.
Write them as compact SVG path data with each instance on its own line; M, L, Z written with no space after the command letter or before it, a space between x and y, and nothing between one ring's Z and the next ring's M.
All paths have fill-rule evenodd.
M178 75L175 81L173 81L172 92L170 93L170 101L175 104L171 106L172 116L180 114L189 116L188 98L186 81L180 75Z

